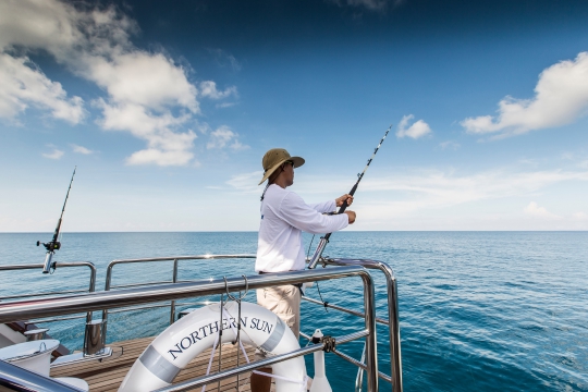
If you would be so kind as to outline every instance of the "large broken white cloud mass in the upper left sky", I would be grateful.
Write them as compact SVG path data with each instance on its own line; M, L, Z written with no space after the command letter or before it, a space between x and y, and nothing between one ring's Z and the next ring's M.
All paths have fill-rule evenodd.
M15 88L4 89L0 91L0 114L23 111L27 102L35 102L51 109L53 117L72 122L82 118L79 98L68 99L59 83L25 66L26 58L10 54L14 47L42 49L108 94L94 102L102 111L97 121L102 128L130 132L147 142L147 148L131 155L127 163L189 163L194 160L192 149L196 134L186 126L196 122L194 115L200 113L198 96L216 100L237 97L236 87L218 90L215 82L206 81L200 83L201 91L198 91L188 81L189 70L163 53L136 48L130 37L137 30L136 23L115 7L99 8L87 2L77 2L74 7L58 0L0 2L2 59L20 62L21 73L28 71L30 77L36 77L30 86L37 86L39 93L34 96L45 97L45 101L35 101L23 98L23 93ZM45 90L38 86L45 86ZM49 94L41 94L44 91ZM220 138L215 143L222 146L228 143L223 142L223 135L217 136ZM230 137L233 139L230 147L242 149L235 136Z

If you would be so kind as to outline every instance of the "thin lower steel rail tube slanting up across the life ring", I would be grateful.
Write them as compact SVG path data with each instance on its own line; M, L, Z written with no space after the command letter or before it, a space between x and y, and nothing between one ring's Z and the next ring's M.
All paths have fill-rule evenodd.
M344 335L344 336L341 336L341 338L335 338L335 341L336 341L338 344L343 344L343 343L352 342L352 341L357 340L357 339L362 339L364 336L367 336L368 334L369 334L368 331L360 331L360 332L350 333L348 335ZM188 391L191 389L203 387L203 385L206 385L206 384L215 382L215 381L225 380L228 378L235 377L237 375L242 375L242 373L247 372L247 371L252 371L252 370L255 370L255 369L268 367L268 366L277 364L279 362L283 362L283 360L299 357L302 355L308 355L308 354L311 354L311 353L315 353L315 352L319 352L319 351L321 351L323 348L324 348L323 343L309 344L306 347L298 348L296 351L293 351L293 352L290 352L290 353L286 353L286 354L274 355L274 356L271 356L271 357L266 358L266 359L256 360L254 363L249 363L249 364L244 365L244 366L240 366L240 367L236 367L236 368L220 371L220 372L215 373L215 375L203 376L203 377L199 377L199 378L194 379L194 380L188 380L188 381L184 381L184 382L181 382L181 383L177 383L177 384L174 384L174 385L161 388L161 389L158 389L156 392Z

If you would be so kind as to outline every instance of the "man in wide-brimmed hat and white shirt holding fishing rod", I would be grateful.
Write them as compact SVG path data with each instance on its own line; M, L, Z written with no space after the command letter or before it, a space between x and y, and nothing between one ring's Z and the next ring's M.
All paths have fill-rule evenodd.
M332 233L355 222L355 212L327 216L344 200L353 203L353 196L343 195L334 200L307 205L286 187L294 184L294 169L304 164L301 157L291 157L283 148L270 149L261 161L264 177L268 180L261 196L261 222L257 245L255 270L259 273L297 271L305 268L302 232L313 234ZM301 289L295 285L266 287L257 291L257 303L280 317L298 338L301 329ZM260 369L271 372L271 368ZM269 391L269 378L252 375L252 391Z

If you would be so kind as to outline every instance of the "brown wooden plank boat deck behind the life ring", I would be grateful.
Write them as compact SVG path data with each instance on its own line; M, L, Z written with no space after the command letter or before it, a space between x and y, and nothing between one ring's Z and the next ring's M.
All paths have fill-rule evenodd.
M51 377L76 377L86 380L91 392L117 391L122 383L124 376L131 369L137 357L151 343L155 338L143 338L130 341L117 342L109 344L110 347L123 347L123 354L115 359L107 359L103 362L91 360L77 365L69 365L51 369ZM255 348L245 346L249 360L254 360ZM175 378L174 383L186 381L196 377L204 376L210 359L210 350L205 351L198 357L194 358ZM241 355L242 365L245 364L245 358ZM224 344L222 346L222 369L228 369L236 366L236 345ZM211 372L218 370L218 351L215 353ZM250 391L249 388L250 373L240 376L238 391ZM236 377L221 381L220 389L218 382L207 385L206 391L235 391ZM200 391L200 388L194 391Z

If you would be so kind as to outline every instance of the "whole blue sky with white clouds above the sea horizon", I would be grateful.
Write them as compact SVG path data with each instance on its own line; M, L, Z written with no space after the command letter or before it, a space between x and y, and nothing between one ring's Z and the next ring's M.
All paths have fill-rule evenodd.
M583 0L0 0L0 232L588 230Z

